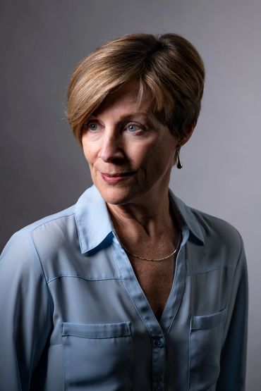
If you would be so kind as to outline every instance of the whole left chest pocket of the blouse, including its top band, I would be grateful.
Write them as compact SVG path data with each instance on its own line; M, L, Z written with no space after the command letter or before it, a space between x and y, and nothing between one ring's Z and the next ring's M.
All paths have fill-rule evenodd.
M65 390L132 389L130 322L62 323Z

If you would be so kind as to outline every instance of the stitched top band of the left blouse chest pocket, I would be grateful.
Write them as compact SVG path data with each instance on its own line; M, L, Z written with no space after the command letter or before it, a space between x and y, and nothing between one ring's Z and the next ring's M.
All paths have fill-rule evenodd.
M130 322L122 323L62 323L61 335L73 335L82 338L116 338L130 335Z

